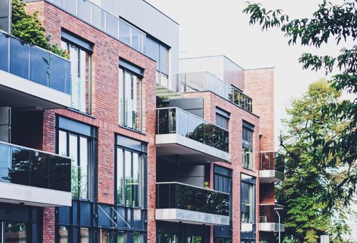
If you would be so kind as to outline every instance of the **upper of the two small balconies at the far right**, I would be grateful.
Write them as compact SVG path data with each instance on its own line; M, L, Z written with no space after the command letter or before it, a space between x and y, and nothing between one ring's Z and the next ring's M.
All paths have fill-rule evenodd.
M274 151L260 152L260 183L284 180L284 158Z

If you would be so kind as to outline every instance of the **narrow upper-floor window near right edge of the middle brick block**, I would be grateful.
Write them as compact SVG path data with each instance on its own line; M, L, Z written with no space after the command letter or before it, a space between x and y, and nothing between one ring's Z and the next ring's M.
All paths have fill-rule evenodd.
M247 169L253 169L253 129L254 126L249 124L245 126L247 122L243 121L242 131L242 162L243 167Z

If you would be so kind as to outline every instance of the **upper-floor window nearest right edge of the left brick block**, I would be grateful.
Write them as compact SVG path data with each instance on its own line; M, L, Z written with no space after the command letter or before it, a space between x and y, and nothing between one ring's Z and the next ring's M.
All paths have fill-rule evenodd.
M119 68L119 124L142 131L142 81L127 69Z

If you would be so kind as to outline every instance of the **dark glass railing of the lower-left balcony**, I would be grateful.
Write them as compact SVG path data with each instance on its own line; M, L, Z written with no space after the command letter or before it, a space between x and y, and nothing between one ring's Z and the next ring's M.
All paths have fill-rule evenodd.
M71 192L71 159L0 142L0 182Z

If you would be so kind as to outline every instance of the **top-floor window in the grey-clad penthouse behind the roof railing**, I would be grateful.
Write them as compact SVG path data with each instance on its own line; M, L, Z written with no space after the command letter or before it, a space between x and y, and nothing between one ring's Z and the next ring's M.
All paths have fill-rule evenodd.
M169 49L151 37L147 37L145 54L156 61L156 83L170 87L169 81Z

